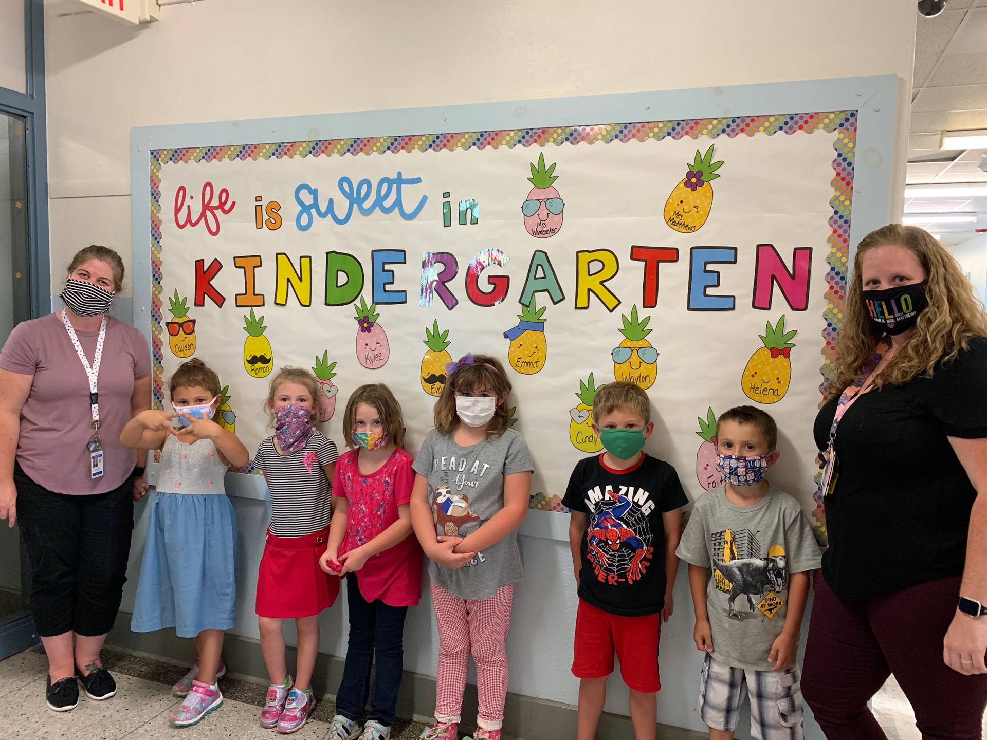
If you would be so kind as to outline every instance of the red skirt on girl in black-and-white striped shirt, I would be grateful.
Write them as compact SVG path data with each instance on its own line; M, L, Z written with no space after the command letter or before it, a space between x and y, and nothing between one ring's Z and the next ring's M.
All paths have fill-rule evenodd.
M276 537L267 531L257 574L257 614L289 620L313 617L340 595L340 578L319 567L329 527L302 537Z

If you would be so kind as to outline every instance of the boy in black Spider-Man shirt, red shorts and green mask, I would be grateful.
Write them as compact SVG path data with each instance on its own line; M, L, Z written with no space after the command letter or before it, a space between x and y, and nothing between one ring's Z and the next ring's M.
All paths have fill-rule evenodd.
M631 691L637 740L653 740L658 637L672 614L682 507L675 469L643 448L654 424L645 392L608 383L593 399L593 429L606 451L580 460L564 503L579 587L572 674L579 681L578 740L592 740L614 652Z

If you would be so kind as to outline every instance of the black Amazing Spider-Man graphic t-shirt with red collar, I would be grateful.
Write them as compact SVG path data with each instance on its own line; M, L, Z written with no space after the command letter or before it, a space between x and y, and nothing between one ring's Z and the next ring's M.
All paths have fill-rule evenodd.
M579 553L579 598L608 614L641 617L665 605L661 515L689 503L668 463L642 455L624 471L603 455L580 460L563 503L586 514Z

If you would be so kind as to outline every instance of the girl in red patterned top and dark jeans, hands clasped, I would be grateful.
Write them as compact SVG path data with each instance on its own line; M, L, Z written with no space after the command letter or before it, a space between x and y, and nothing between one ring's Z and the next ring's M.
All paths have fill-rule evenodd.
M421 597L421 548L408 502L415 462L402 449L405 423L390 389L360 386L342 420L346 445L333 481L333 523L320 564L346 579L349 647L327 740L389 740L404 671L408 607ZM373 700L360 732L370 686Z

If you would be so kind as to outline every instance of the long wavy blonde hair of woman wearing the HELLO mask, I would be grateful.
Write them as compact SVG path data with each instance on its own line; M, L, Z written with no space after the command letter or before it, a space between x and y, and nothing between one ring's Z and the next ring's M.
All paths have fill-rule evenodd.
M874 385L901 386L917 377L932 377L936 365L949 362L969 346L971 336L987 336L987 312L959 263L925 229L888 224L861 240L847 286L843 327L836 340L835 376L826 384L827 398L838 397L873 356L883 333L868 316L861 299L861 260L875 247L911 250L926 273L928 307L919 314L908 340L874 378Z

